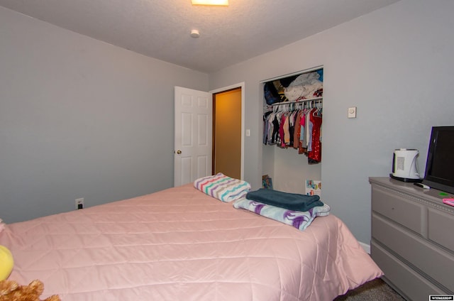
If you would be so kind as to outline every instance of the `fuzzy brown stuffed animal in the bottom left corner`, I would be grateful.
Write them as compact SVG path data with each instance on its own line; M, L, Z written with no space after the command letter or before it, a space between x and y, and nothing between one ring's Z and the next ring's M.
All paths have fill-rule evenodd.
M16 281L0 281L0 301L40 301L44 285L40 280L33 280L29 285L19 285ZM61 301L57 295L52 295L44 301Z

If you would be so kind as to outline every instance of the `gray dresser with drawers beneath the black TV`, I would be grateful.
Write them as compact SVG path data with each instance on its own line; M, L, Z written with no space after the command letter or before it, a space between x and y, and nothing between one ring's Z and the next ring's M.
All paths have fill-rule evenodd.
M370 177L371 256L407 300L454 295L454 207L440 190Z

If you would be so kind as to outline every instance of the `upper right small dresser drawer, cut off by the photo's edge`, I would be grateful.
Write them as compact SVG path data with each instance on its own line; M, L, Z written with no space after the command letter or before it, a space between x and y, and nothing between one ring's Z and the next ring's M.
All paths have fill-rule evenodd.
M454 216L428 209L428 239L454 251ZM453 280L454 282L454 280Z

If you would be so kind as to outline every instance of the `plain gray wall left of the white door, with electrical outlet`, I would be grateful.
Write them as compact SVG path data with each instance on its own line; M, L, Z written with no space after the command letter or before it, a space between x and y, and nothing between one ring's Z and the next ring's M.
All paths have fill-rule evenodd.
M208 75L0 7L0 219L173 185L173 87Z

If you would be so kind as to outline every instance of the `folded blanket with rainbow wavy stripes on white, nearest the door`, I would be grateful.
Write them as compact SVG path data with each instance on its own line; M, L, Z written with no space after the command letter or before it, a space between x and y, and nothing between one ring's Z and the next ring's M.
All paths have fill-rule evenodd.
M248 182L228 177L223 173L201 177L194 181L194 187L222 202L235 201L245 197L250 191Z

